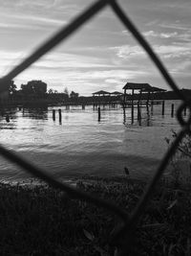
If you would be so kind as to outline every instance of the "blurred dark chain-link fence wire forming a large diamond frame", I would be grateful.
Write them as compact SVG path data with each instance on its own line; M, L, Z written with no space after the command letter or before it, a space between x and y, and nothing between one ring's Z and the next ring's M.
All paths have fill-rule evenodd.
M19 65L11 70L6 76L0 79L0 93L4 93L8 91L9 84L12 79L14 79L17 75L21 72L26 70L29 66L32 65L38 58L41 58L48 52L50 52L53 47L58 45L61 41L66 40L70 35L73 35L81 26L83 26L86 22L88 22L93 16L96 15L99 11L104 9L106 6L110 6L113 10L114 14L117 15L117 18L122 22L126 29L128 29L132 35L138 40L138 43L142 46L148 56L153 60L155 65L158 67L161 76L164 80L168 83L168 85L176 92L181 100L181 105L177 110L177 119L180 123L181 130L180 133L175 138L174 142L172 143L169 150L164 155L163 159L159 164L159 168L156 171L156 174L153 176L152 181L148 184L147 189L143 196L139 199L138 205L133 213L129 216L126 211L122 208L118 207L117 204L104 200L101 198L93 197L92 195L77 190L69 185L60 182L59 180L55 179L52 175L48 175L45 170L35 166L34 164L30 163L26 159L24 159L21 155L6 149L5 146L0 145L0 153L13 162L14 164L18 165L19 167L23 168L26 172L29 172L32 175L44 180L49 185L53 186L53 188L60 189L67 194L71 198L78 198L82 200L86 200L90 203L96 204L98 207L103 207L106 210L114 213L117 217L121 220L121 224L119 225L115 234L113 234L111 238L111 246L117 246L117 255L127 255L130 251L130 244L127 240L131 240L134 231L137 228L138 220L141 217L146 204L148 203L149 199L151 198L154 189L156 187L159 178L163 174L165 168L167 167L170 158L175 154L178 150L180 142L182 138L186 134L191 134L191 103L187 101L184 95L181 93L179 86L170 76L167 69L164 67L163 63L160 61L159 57L156 53L152 50L151 45L145 40L145 38L138 32L138 29L134 25L134 23L129 19L126 13L123 12L121 7L118 5L117 1L115 0L99 0L92 4L86 11L82 12L79 16L74 18L74 20L63 27L58 33L53 35L48 41L42 44L39 48L37 48L31 56L24 59ZM183 119L183 109L189 109L189 117L187 120Z

